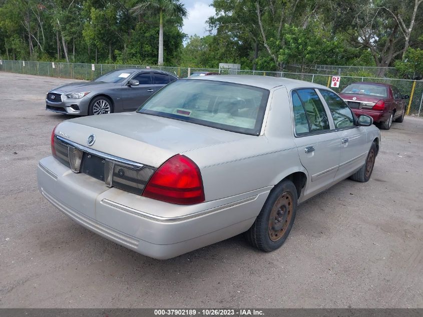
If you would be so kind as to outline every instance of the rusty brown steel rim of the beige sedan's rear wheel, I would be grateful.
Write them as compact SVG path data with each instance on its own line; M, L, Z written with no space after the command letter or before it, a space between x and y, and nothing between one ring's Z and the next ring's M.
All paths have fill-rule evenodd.
M286 232L293 212L292 196L284 192L274 203L269 215L268 235L270 240L278 241Z

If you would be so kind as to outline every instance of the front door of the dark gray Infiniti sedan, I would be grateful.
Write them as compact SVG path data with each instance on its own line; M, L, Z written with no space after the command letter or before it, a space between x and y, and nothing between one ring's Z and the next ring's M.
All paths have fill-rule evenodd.
M122 94L123 109L126 111L138 109L154 93L151 72L139 72L132 80L137 80L138 86L126 85Z

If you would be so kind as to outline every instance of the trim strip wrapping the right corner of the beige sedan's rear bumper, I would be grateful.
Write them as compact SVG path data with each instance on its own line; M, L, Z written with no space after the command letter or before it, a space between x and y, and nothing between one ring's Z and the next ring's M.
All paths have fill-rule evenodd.
M147 219L150 219L150 220L155 220L155 221L159 221L159 222L177 222L177 221L183 221L183 220L187 220L187 219L196 218L196 217L203 216L203 215L206 215L206 214L209 214L209 213L212 213L212 212L221 211L223 209L234 207L234 206L237 206L237 205L241 205L241 204L244 204L246 202L253 201L253 200L257 199L257 197L258 197L258 195L247 197L247 198L237 200L237 201L225 204L225 205L217 206L217 207L214 207L214 208L210 208L210 209L206 209L206 210L202 210L202 211L199 211L199 212L191 213L191 214L188 214L188 215L185 215L185 216L178 216L178 217L161 217L161 216L152 215L150 213L140 211L140 210L137 210L137 209L134 209L134 208L131 208L131 207L127 207L125 205L121 205L117 202L114 202L114 201L111 201L111 200L105 199L105 198L101 200L101 203L104 204L104 205L108 205L110 207L119 209L121 211L126 211L126 212L129 212L129 213L132 213L132 214L135 214L137 216L141 216L143 218L147 218Z

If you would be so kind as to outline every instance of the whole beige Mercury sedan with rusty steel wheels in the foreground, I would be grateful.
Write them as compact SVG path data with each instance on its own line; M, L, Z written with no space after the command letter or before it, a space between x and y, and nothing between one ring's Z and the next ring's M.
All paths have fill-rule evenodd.
M347 177L369 180L380 132L324 86L219 75L175 81L137 112L62 122L51 146L38 165L44 197L166 259L242 232L277 249L299 203Z

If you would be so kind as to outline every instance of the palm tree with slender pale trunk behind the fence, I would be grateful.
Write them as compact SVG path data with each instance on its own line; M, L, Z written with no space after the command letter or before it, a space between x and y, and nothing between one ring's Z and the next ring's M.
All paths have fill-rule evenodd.
M131 11L139 15L147 10L160 13L160 32L159 32L159 65L163 65L163 14L168 17L188 17L188 11L179 0L135 0Z

